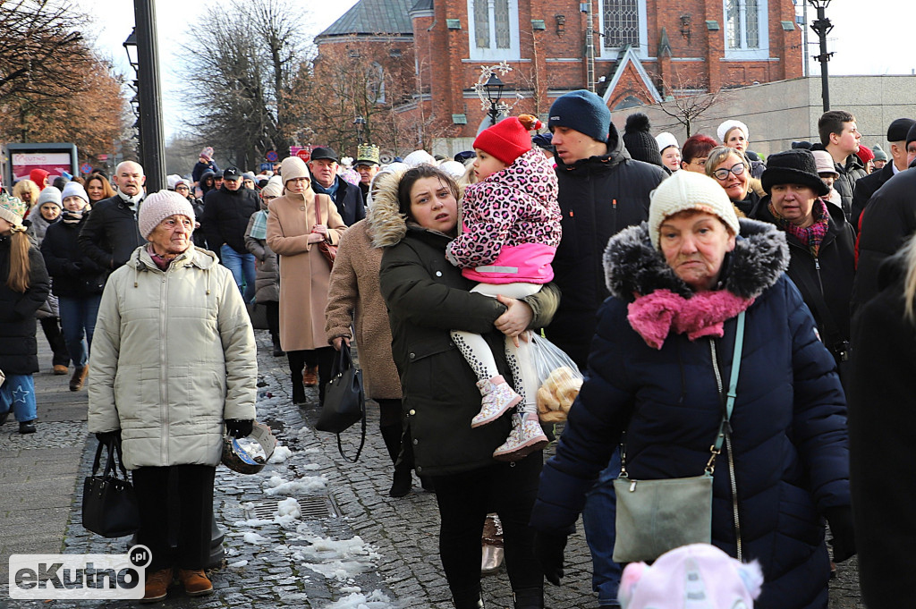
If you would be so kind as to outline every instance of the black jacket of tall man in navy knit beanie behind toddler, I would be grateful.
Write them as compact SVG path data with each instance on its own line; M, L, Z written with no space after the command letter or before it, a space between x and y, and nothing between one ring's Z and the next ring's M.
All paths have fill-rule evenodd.
M667 173L630 158L611 125L603 157L573 165L557 159L562 241L553 258L554 282L562 292L560 310L547 336L584 368L598 307L607 298L601 257L607 240L627 226L649 219L649 192Z

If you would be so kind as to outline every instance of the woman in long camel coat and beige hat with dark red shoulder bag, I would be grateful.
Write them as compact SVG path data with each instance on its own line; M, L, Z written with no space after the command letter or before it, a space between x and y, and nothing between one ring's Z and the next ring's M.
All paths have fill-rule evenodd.
M289 358L292 401L305 403L302 368L318 367L319 399L333 363L333 348L324 332L324 308L328 302L331 265L318 244L340 242L346 225L331 197L311 190L311 176L298 157L284 158L280 165L283 196L267 206L267 245L279 256L280 346ZM317 222L316 205L322 222Z

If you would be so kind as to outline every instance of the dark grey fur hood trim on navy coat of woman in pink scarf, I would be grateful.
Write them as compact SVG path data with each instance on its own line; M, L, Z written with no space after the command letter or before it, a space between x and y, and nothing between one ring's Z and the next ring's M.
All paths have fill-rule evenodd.
M722 288L742 299L756 298L789 267L786 236L775 226L739 219L735 250L725 256ZM605 248L605 282L611 294L632 302L658 289L689 299L693 291L678 277L649 240L649 225L630 226L614 235Z

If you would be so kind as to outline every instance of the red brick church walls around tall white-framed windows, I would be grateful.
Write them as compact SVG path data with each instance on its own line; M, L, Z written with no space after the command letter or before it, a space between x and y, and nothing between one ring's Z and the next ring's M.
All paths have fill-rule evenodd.
M605 94L611 109L637 100L649 104L669 95L802 76L802 32L794 25L792 0L757 0L766 6L760 9L759 23L767 25L758 27L758 46L764 49L756 57L726 53L726 0L638 0L645 11L640 14L642 44L632 55L636 62L621 62L623 51L601 49L605 1L591 1L594 81L595 91ZM468 0L432 4L410 13L413 53L404 53L403 60L415 57L419 78L414 101L403 106L401 114L408 124L424 122L436 137L473 137L485 117L474 83L482 66L499 63L498 52L492 59L471 59ZM513 71L502 77L507 84L504 98L514 98L517 92L523 97L513 114L547 114L564 92L587 88L587 14L581 12L581 4L584 0L509 0L518 11L518 26L510 30L514 48L507 51L507 63ZM660 44L665 39L662 30L667 45ZM613 90L605 92L611 84Z

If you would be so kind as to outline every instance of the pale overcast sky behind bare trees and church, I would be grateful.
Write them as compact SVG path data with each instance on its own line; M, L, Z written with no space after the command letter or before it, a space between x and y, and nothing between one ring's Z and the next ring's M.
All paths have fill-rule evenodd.
M179 78L180 43L193 40L194 25L204 19L230 18L221 11L220 3L202 0L155 0L159 37L159 62L166 136L180 130L181 97L193 94L193 83L181 83ZM770 0L778 1L778 0ZM330 26L356 0L312 2L303 0L311 22L311 36ZM96 21L96 47L114 60L116 69L133 76L122 46L134 27L133 3L128 0L77 0L77 4L93 15ZM827 16L834 23L829 50L834 51L830 73L840 74L911 74L916 69L916 57L909 52L909 32L914 14L911 0L834 0L827 7ZM879 8L878 8L879 7ZM809 6L809 22L814 9ZM893 18L897 16L899 18ZM817 54L817 35L809 30L810 53ZM812 61L812 75L820 74L820 66Z

